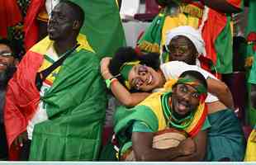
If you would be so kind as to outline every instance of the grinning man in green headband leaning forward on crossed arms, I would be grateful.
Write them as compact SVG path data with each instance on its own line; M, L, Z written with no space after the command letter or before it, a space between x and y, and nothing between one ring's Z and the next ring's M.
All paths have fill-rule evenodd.
M206 153L206 79L197 71L186 71L165 83L132 109L121 108L115 115L116 147L121 160L200 161ZM156 134L184 134L177 144L154 143ZM179 135L178 135L179 134ZM168 138L165 138L168 139ZM164 141L163 141L164 143ZM133 154L133 155L131 155Z

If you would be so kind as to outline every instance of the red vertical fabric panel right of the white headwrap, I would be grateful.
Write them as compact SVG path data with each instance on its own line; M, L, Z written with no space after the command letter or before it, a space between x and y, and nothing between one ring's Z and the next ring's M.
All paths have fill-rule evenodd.
M215 41L220 32L225 28L226 21L225 14L209 9L208 19L202 30L202 38L206 43L206 58L211 59L215 65L217 59Z

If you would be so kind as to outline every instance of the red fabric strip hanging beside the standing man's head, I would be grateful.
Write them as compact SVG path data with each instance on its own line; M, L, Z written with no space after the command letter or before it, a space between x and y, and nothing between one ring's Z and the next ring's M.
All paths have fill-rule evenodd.
M28 7L24 21L24 45L26 51L38 41L39 31L36 17L44 6L45 0L31 0L30 6Z

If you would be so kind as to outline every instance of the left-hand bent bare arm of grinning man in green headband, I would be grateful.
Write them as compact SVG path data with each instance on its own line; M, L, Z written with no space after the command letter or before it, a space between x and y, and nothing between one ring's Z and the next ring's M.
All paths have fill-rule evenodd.
M195 151L192 139L185 139L178 147L158 149L152 148L154 133L133 132L132 148L137 161L170 161L179 156L189 155Z

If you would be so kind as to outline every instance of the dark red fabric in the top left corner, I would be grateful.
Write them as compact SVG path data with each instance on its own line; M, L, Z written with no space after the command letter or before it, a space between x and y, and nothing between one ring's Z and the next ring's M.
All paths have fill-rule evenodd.
M15 26L22 20L16 0L0 0L0 36L7 38L7 27Z

